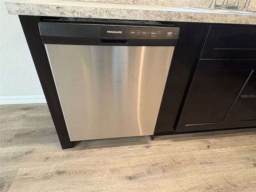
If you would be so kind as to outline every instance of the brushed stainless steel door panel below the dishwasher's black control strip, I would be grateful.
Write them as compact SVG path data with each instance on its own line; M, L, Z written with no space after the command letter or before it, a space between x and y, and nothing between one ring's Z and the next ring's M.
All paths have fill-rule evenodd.
M45 46L71 141L154 134L174 46Z

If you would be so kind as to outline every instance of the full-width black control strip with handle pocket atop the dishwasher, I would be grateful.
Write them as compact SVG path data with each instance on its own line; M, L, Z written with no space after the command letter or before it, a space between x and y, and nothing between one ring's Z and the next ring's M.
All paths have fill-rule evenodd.
M180 28L66 22L39 22L44 44L176 46Z

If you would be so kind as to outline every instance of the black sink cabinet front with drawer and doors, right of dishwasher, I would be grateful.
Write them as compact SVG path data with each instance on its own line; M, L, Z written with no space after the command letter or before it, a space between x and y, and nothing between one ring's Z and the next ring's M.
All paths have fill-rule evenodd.
M211 26L175 132L256 127L256 30Z

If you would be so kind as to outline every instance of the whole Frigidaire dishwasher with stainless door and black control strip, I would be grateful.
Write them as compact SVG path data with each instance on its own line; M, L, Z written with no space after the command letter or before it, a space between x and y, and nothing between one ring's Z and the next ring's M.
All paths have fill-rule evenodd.
M70 141L154 134L179 28L40 22Z

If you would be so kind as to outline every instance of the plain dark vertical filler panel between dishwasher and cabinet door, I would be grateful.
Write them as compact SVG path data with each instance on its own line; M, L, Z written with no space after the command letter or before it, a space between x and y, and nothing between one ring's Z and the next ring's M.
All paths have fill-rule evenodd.
M174 50L154 135L174 133L174 124L195 58L201 53L208 32L206 23L175 23L180 36Z

